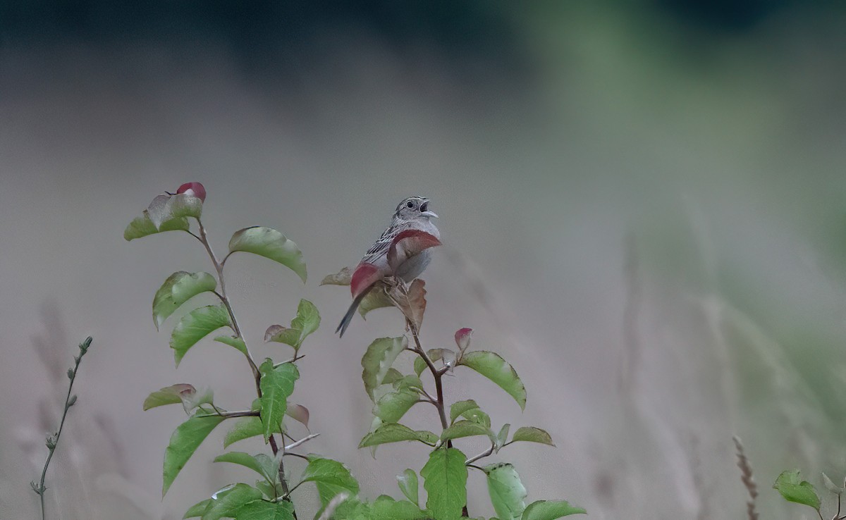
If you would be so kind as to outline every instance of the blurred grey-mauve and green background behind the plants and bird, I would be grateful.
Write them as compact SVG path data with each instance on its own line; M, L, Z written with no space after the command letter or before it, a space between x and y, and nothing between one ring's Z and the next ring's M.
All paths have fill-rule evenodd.
M161 499L184 415L142 412L146 395L191 382L236 409L253 389L208 340L174 369L169 326L151 322L171 272L210 269L199 244L122 237L185 181L206 185L218 250L257 224L303 249L305 286L244 255L229 292L259 356L287 354L261 345L266 326L318 305L295 393L321 433L307 447L365 496L398 496L394 475L426 456L355 449L360 355L402 323L380 310L338 339L349 293L318 282L426 194L445 243L426 346L470 326L523 377L522 414L472 374L447 394L550 431L558 449L500 453L530 500L744 517L739 435L761 517L810 517L771 485L785 468L820 488L846 473L844 85L846 9L824 0L0 3L0 517L36 517L29 482L88 335L50 517L179 518L252 478L211 464L221 429ZM250 442L233 447L264 449ZM470 512L491 516L470 479ZM309 517L314 493L295 493Z

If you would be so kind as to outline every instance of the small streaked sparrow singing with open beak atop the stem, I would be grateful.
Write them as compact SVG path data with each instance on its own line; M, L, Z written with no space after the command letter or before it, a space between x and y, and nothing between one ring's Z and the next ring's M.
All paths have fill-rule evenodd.
M364 258L355 267L349 285L353 304L335 330L342 337L353 319L355 309L358 309L361 300L376 282L386 276L397 276L404 282L411 282L426 269L431 260L429 248L441 244L441 233L431 222L432 217L437 215L429 211L429 200L426 197L409 197L399 203L391 225L371 249L367 249Z

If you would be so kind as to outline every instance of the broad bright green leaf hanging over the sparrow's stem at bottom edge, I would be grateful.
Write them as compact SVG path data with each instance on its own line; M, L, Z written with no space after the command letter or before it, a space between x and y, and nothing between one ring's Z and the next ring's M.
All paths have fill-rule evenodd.
M467 503L467 467L464 453L455 448L439 448L429 455L426 466L420 470L426 488L426 509L437 520L461 517Z

